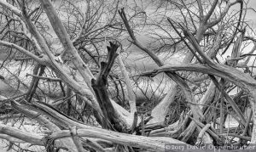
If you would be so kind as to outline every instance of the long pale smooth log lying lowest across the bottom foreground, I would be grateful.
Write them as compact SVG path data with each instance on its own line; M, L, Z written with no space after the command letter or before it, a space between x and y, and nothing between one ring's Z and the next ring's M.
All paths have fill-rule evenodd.
M98 131L92 129L78 129L77 134L79 137L100 138L111 141L115 144L123 144L140 149L147 149L150 151L165 151L166 146L173 144L183 144L184 146L187 145L173 138L144 137L121 132L107 131L100 128L97 130ZM100 130L102 130L102 132L100 132ZM16 129L15 127L8 127L3 124L0 124L0 133L4 133L25 142L38 145L46 144L46 139L55 140L55 144L58 144L57 139L71 137L70 130L62 130L60 132L53 132L49 136L42 136L23 132L20 129Z

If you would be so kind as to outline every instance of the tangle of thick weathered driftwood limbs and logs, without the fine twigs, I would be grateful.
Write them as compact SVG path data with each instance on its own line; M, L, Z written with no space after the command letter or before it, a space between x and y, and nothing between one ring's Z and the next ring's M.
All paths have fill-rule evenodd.
M179 42L184 42L186 47L190 50L190 53L187 53L185 59L183 59L182 65L164 65L163 60L154 53L153 49L151 50L151 48L143 46L143 43L138 41L134 33L135 29L132 29L132 27L129 25L130 19L127 19L128 15L126 16L124 11L125 9L123 8L119 10L121 20L123 20L125 28L131 37L130 42L137 46L137 48L142 49L144 53L147 53L148 56L154 60L156 65L160 66L154 71L143 73L141 76L151 77L159 74L160 72L163 72L164 74L166 74L166 76L170 77L173 80L172 87L169 93L167 93L166 97L160 102L160 104L158 104L152 110L152 115L146 120L144 120L144 114L140 115L139 112L136 112L136 99L132 91L129 76L125 71L125 65L122 63L121 58L119 58L119 67L123 76L125 77L124 79L127 87L131 112L129 110L125 110L123 107L119 106L119 104L116 104L112 99L109 98L107 92L108 76L113 66L114 60L118 55L117 49L119 48L119 46L113 42L110 42L110 47L108 47L108 59L106 62L102 62L100 64L101 69L97 70L98 75L96 77L93 76L91 70L89 69L89 65L87 65L86 62L79 55L79 49L84 48L84 51L87 53L88 50L86 50L84 46L78 47L74 45L74 42L79 40L79 37L83 34L83 32L86 32L84 28L87 21L84 20L83 25L79 30L79 34L77 35L77 37L71 40L52 3L49 0L40 0L39 2L41 3L41 8L44 9L43 12L47 14L49 22L53 26L56 36L61 42L61 47L64 48L65 53L68 53L71 56L70 61L73 65L67 65L66 63L61 62L60 60L57 60L55 58L52 50L48 45L48 42L45 40L44 36L41 35L41 33L38 31L36 25L33 22L34 20L31 20L30 18L31 14L34 12L32 11L32 13L27 14L27 11L29 10L26 10L25 1L19 3L20 8L16 8L16 4L12 5L9 2L0 1L1 6L4 8L3 10L8 9L8 11L12 13L10 14L10 16L14 17L15 20L20 21L20 34L24 35L22 37L26 37L26 40L32 42L32 45L34 46L34 48L36 48L38 53L33 53L32 50L26 50L27 48L22 48L19 46L20 44L12 43L12 41L9 41L8 39L1 39L1 46L3 45L5 47L15 48L20 53L24 53L27 56L26 58L33 59L38 63L38 65L42 65L41 72L39 72L39 74L38 71L35 71L34 75L31 75L33 76L32 85L28 90L28 93L26 93L26 100L28 101L28 103L22 101L20 104L18 104L18 102L16 102L14 99L8 100L6 102L11 101L11 106L13 109L18 110L21 114L25 114L29 117L36 119L41 123L41 125L48 127L50 130L49 135L47 136L31 137L32 134L25 134L25 132L20 132L19 130L15 130L12 127L6 127L4 125L1 125L0 132L4 132L5 135L8 135L9 137L14 137L15 139L12 140L16 140L18 142L26 141L38 145L49 144L49 141L52 140L55 141L54 144L58 144L58 146L61 147L64 146L71 151L84 151L84 145L98 151L106 151L107 149L104 149L104 146L102 146L102 144L95 142L96 139L102 139L108 140L108 142L110 142L111 146L108 146L108 150L115 147L116 150L125 149L126 151L133 151L133 148L136 147L145 150L163 151L166 144L182 143L178 142L176 139L188 143L190 142L189 139L195 139L195 137L198 135L198 132L195 132L197 128L197 131L201 131L198 136L198 138L200 138L200 143L201 139L205 139L203 142L210 141L210 143L213 139L213 143L215 141L218 141L218 144L223 144L222 136L224 135L224 133L226 133L227 136L230 134L230 128L224 128L224 118L226 114L231 114L240 123L240 127L244 127L245 129L241 133L230 134L230 136L241 138L241 140L251 140L253 144L256 143L256 82L252 78L252 76L248 76L240 70L236 70L238 61L240 61L241 59L245 59L247 55L253 55L241 55L239 52L241 49L241 44L246 37L245 30L243 29L239 31L241 32L241 35L239 36L239 33L237 33L238 28L234 33L234 37L238 37L236 39L236 43L234 43L231 59L227 59L224 64L219 64L216 57L216 54L220 53L222 48L225 48L225 46L222 44L222 41L224 41L224 39L222 39L224 33L220 28L216 30L217 28L213 26L218 25L218 23L224 19L224 16L227 14L229 8L232 5L240 3L242 9L241 0L237 0L232 3L230 1L225 3L223 9L222 7L220 7L221 13L218 14L219 16L214 14L215 8L217 7L218 3L220 3L218 0L214 0L214 2L211 3L211 6L209 6L209 11L203 10L203 7L205 7L205 5L203 5L200 0L196 1L199 9L199 20L197 20L199 26L197 27L197 25L194 25L194 33L189 32L188 27L185 26L188 24L175 23L173 20L167 19L174 31L177 32L178 37L181 38ZM184 4L184 6L186 5ZM89 7L90 6L88 4L88 8ZM117 7L116 12L118 12L118 8L119 7ZM214 15L214 17L212 14ZM242 13L240 12L240 19L238 20L237 27L239 27L239 24L241 22L241 14ZM9 18L9 16L6 17ZM183 35L180 33L180 30L183 31ZM207 34L207 32L210 31L213 31L214 34ZM205 37L205 35L207 35L207 37L214 36L216 42L214 40L214 42L209 43L212 44L212 46L208 47L207 45L205 45L203 48L200 44L202 43L202 37ZM229 45L233 41L234 37L231 38ZM229 46L225 48L224 52L228 48ZM92 54L89 55L91 58L93 58ZM195 64L190 64L194 57L196 59ZM248 62L248 59L246 62ZM245 65L242 65L241 67L246 67L247 71L245 70L245 72L250 72L250 70L248 70L246 62ZM99 65L97 61L96 65ZM88 104L93 108L94 116L96 117L96 120L100 123L103 129L100 127L90 127L84 123L72 119L68 116L70 111L67 112L68 115L64 115L63 113L61 113L61 111L56 110L49 104L40 102L30 103L30 101L32 101L31 99L33 98L32 96L35 93L36 88L38 87L39 79L44 78L46 80L49 80L47 77L41 76L44 73L44 67L46 66L49 67L50 70L54 71L55 75L60 78L55 79L55 81L61 81L65 83L67 87L70 87L74 94L78 95L79 98L84 101L84 103ZM73 73L69 71L71 68L77 71L77 76L73 76ZM38 67L36 67L35 70L38 70ZM187 76L180 75L180 73L178 73L180 70L200 72L201 74L207 74L206 76L209 76L211 78L211 83L210 86L207 88L207 93L201 93L203 94L203 98L199 101L199 103L196 102L197 99L195 99L194 97L194 91L192 92L194 88L191 89L188 85L188 82L191 82L189 81L191 77L188 78ZM220 79L218 80L218 78L216 77L220 77ZM191 79L193 79L193 77ZM236 100L232 99L228 94L228 89L224 88L226 87L225 85L227 83L231 82L234 83L236 87L240 87L244 93L247 93L247 97L251 98L247 101L251 102L251 108L253 111L247 119L243 114L244 111L241 110L240 107L237 105ZM202 86L203 85L197 84L196 87L198 88ZM177 123L173 124L173 126L175 127L169 128L160 123L153 124L153 122L165 121L167 111L170 110L170 105L174 101L175 96L177 96L177 87L180 87L180 90L183 92L183 95L186 99L185 103L189 106L190 112L186 111L188 112L186 118L182 118ZM119 87L115 88L118 89ZM62 87L61 89L62 91L64 90ZM68 96L71 97L71 95ZM218 103L221 103L220 108L218 108ZM229 110L227 110L225 111L226 113L224 113L224 104L229 104L226 105L226 107L232 111L230 112ZM214 107L215 105L216 107ZM201 106L207 106L207 109L202 108ZM221 121L219 123L220 129L217 130L219 132L217 132L215 128L210 125L211 121L213 121L213 126L215 125L215 119L218 117L218 115L215 115L214 112L217 111L217 109L221 111ZM49 119L45 118L43 115L49 117ZM138 115L140 115L141 118ZM149 120L151 118L152 121ZM250 124L251 119L253 119L253 129L251 128ZM148 121L150 121L151 124L148 124ZM206 124L208 125L206 126ZM72 129L68 130L68 128ZM142 136L125 133L141 133ZM147 135L166 136L168 138L144 137ZM9 138L7 136L2 137ZM47 138L48 140L46 140L45 138ZM93 140L91 138L96 139ZM20 141L20 139L22 139L22 141ZM233 139L231 139L230 141L232 140ZM238 144L241 144L241 142L238 142Z

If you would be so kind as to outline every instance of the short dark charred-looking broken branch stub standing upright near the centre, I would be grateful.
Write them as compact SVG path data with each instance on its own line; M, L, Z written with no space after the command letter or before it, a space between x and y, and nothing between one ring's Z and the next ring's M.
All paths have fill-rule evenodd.
M114 59L118 56L116 51L119 46L113 42L110 42L110 47L108 46L107 48L107 62L101 62L101 70L96 79L91 79L91 86L96 93L96 99L100 104L103 115L105 116L105 119L103 119L102 122L102 127L117 130L119 132L125 132L127 126L124 121L119 119L119 115L114 109L107 92L108 74L113 66Z

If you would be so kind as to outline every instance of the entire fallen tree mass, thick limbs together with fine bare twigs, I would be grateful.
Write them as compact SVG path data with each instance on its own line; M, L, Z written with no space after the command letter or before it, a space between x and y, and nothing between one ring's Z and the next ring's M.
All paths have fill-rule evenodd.
M24 55L15 60L21 67L26 59L32 60L27 62L32 65L32 74L26 76L32 76L32 80L25 93L11 98L1 96L1 106L9 107L7 113L11 110L26 115L48 129L39 135L1 124L0 138L44 146L49 151L165 151L170 144L223 146L229 136L239 138L239 141L226 139L230 144L247 145L247 141L255 144L256 81L253 69L249 69L254 66L248 65L255 46L246 53L242 49L247 47L247 42L254 44L255 39L247 36L250 31L242 20L245 3L240 0L163 3L173 7L166 10L180 14L177 18L183 16L183 19L161 14L161 5L155 8L155 16L150 16L155 19L152 21L147 20L147 15L143 16L148 13L140 10L137 3L135 13L131 14L124 8L125 2L119 1L86 1L82 8L72 1L55 3L56 6L49 0L0 1L6 23L1 26L1 47ZM236 14L238 18L229 14L236 4L241 6ZM154 6L154 2L150 6ZM194 8L199 11L193 13ZM65 14L58 12L63 9ZM164 18L158 19L159 14ZM108 20L104 19L106 15ZM143 28L142 19L146 20ZM139 28L149 33L150 44L141 42L136 35ZM50 37L55 37L57 42L50 41L46 29L54 33ZM129 49L127 42L152 59L155 70L129 76L125 59L121 58L124 49ZM181 64L168 64L157 55L172 49L173 54L185 53ZM229 53L230 58L223 59L218 53ZM12 60L10 55L8 59ZM11 67L4 62L3 66ZM36 65L33 66L33 62ZM147 90L151 86L148 83L146 88L141 88L145 102L137 106L133 84L138 87L137 80L141 77L154 82L160 73L166 76L166 84L160 82L159 85L168 86L166 94L157 96L160 101L148 99ZM61 94L55 101L48 99L54 94L50 93L53 88ZM231 96L234 88L241 92ZM151 88L150 93L156 89ZM172 108L175 102L179 105ZM177 109L180 111L175 111ZM247 109L251 110L249 116ZM238 132L230 134L224 127L227 115L239 123ZM84 121L89 117L92 123ZM168 123L174 120L175 123Z

